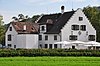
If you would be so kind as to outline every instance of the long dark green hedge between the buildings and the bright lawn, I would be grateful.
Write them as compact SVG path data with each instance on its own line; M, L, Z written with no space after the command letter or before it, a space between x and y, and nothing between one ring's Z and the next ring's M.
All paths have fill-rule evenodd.
M0 57L14 56L96 56L100 57L100 50L73 49L0 49Z

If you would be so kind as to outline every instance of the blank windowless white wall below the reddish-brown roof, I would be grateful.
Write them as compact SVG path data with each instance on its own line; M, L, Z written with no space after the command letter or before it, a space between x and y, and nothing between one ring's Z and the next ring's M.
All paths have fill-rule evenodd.
M16 48L38 48L38 35L37 34L19 34L17 36Z

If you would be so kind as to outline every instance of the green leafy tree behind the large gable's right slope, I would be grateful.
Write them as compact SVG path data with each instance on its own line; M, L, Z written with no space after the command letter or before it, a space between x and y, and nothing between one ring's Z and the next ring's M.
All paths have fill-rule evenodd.
M97 7L87 6L83 11L96 29L97 41L100 42L100 10Z

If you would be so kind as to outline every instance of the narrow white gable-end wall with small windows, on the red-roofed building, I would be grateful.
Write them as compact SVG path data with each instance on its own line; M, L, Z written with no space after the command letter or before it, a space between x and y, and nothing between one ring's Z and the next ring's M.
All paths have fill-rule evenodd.
M9 28L12 27L12 31L9 31ZM11 37L12 37L12 40L11 41L8 41L8 35L11 34ZM12 26L12 24L10 24L10 26L8 27L8 30L5 34L5 42L6 42L6 46L7 44L11 44L12 47L11 48L14 48L14 45L17 44L17 32L16 30L14 29L14 27Z

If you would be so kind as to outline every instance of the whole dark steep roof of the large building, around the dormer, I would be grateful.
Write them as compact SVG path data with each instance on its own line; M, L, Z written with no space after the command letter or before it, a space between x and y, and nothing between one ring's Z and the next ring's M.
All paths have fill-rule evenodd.
M40 24L47 24L48 19L53 20L52 27L47 30L46 34L58 34L60 33L60 30L64 25L67 23L67 21L71 18L71 16L74 14L75 11L69 11L69 12L64 12L63 14L58 13L58 14L50 14L50 15L44 15L38 23ZM49 27L49 26L47 26Z

